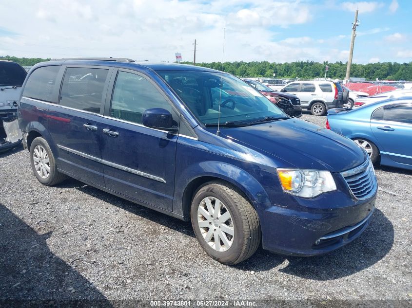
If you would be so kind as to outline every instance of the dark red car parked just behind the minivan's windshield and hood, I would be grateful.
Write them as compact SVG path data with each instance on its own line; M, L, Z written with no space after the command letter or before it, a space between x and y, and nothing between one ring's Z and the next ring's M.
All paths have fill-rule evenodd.
M247 82L257 91L265 95L272 103L282 109L287 115L296 118L302 116L300 99L296 95L286 92L273 91L271 88L253 79L243 79L243 81Z

